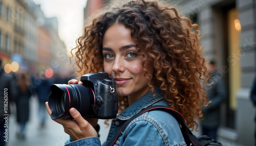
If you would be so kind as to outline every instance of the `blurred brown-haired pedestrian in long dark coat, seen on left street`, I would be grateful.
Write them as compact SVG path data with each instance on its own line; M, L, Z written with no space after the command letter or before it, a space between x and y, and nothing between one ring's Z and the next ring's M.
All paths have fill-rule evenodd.
M16 100L16 113L19 129L17 130L16 136L17 138L25 139L26 126L29 120L29 99L32 95L32 91L29 89L31 79L28 72L20 72L17 74L17 84L18 97Z

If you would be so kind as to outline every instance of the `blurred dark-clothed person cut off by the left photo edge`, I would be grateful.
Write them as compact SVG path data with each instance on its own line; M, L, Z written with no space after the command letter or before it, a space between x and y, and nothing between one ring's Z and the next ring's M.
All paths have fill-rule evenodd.
M8 125L5 125L5 115L10 115L10 103L16 98L15 80L10 74L6 74L2 67L2 60L0 59L0 145L5 145L4 132L8 129ZM6 94L5 94L6 93ZM7 106L5 106L7 104ZM8 110L5 110L8 109ZM5 118L5 119L4 119ZM9 133L9 131L8 131Z

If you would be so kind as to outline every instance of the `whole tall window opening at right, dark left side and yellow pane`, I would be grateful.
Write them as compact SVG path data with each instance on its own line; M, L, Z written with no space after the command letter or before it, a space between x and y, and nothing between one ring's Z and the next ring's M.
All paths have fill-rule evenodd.
M241 88L239 12L234 2L220 3L214 7L216 55L221 60L221 72L227 89L227 100L223 108L222 124L236 128L237 92ZM218 29L217 29L218 28Z

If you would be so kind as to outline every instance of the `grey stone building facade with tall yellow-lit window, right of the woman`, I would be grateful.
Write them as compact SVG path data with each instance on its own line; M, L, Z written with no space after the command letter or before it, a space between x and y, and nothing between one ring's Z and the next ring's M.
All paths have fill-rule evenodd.
M216 59L225 79L227 102L218 136L254 145L254 112L249 92L256 73L254 0L193 0L178 2L202 31L205 59Z

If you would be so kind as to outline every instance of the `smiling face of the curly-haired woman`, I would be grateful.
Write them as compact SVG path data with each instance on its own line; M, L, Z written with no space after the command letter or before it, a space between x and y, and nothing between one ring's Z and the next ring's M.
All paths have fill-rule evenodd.
M104 71L115 79L117 92L128 96L129 104L137 101L150 89L149 80L144 77L141 55L138 55L136 42L131 37L131 30L122 24L114 24L106 30L102 53ZM153 75L153 61L146 61L145 68Z

